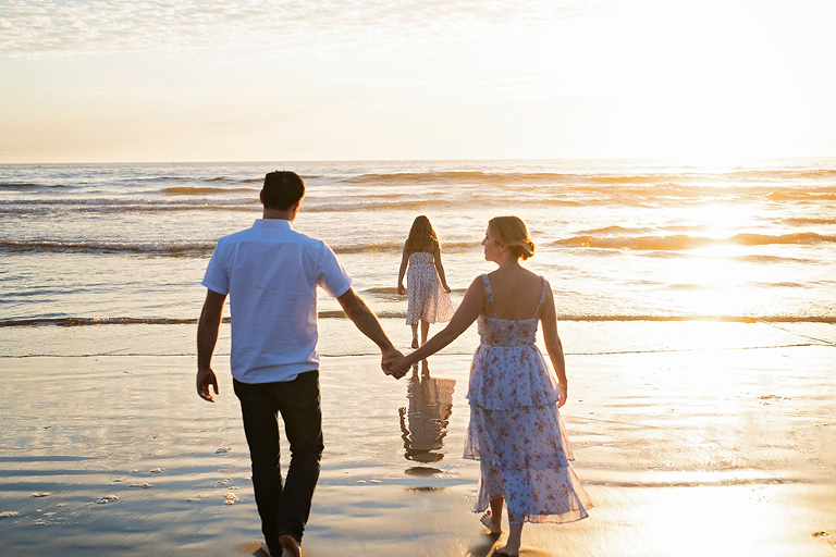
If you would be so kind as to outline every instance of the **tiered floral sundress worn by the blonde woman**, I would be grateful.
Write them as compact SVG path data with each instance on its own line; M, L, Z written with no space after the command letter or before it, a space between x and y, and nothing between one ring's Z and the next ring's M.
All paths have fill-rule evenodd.
M482 275L488 300L493 293ZM545 280L540 310L545 300ZM467 398L470 425L465 458L480 461L476 511L504 497L508 522L571 522L588 517L587 492L569 466L574 460L557 411L557 382L534 346L537 318L479 315L481 344L474 355Z

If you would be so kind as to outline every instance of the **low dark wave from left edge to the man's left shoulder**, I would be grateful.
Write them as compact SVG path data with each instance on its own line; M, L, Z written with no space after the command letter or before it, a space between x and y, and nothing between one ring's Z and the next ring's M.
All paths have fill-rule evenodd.
M0 240L0 253L96 253L204 257L214 250L214 242L57 242Z

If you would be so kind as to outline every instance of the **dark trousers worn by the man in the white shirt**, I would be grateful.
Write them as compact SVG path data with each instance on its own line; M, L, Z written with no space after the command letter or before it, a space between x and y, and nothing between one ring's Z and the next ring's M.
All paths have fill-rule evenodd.
M270 553L282 555L280 535L302 541L319 480L324 447L319 371L300 373L286 382L249 384L233 380L233 385L244 416L261 531ZM284 487L279 467L279 413L291 445Z

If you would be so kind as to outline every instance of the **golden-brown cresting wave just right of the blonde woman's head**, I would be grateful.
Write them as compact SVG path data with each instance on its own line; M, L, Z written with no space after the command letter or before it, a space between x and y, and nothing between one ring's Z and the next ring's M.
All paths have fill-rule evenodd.
M771 236L767 234L737 234L728 238L710 238L676 234L671 236L591 236L581 235L558 239L553 245L578 248L636 249L651 251L679 251L720 245L769 246L774 244L816 245L836 243L836 236L803 232Z

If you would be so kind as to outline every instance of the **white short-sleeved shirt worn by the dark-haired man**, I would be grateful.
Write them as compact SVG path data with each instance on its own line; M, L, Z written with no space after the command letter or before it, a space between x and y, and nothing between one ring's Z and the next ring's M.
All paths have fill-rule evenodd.
M230 295L233 377L271 383L319 368L317 286L339 297L352 281L323 242L259 219L218 240L202 285Z

